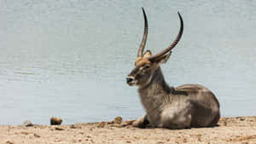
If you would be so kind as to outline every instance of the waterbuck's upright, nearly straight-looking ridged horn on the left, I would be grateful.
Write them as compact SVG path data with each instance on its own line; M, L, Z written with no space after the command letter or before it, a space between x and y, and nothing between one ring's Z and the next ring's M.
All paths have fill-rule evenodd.
M143 34L143 40L140 45L140 48L137 51L137 57L142 57L143 56L143 50L146 45L147 37L148 37L148 20L147 20L147 15L143 9L143 16L144 16L144 34Z

